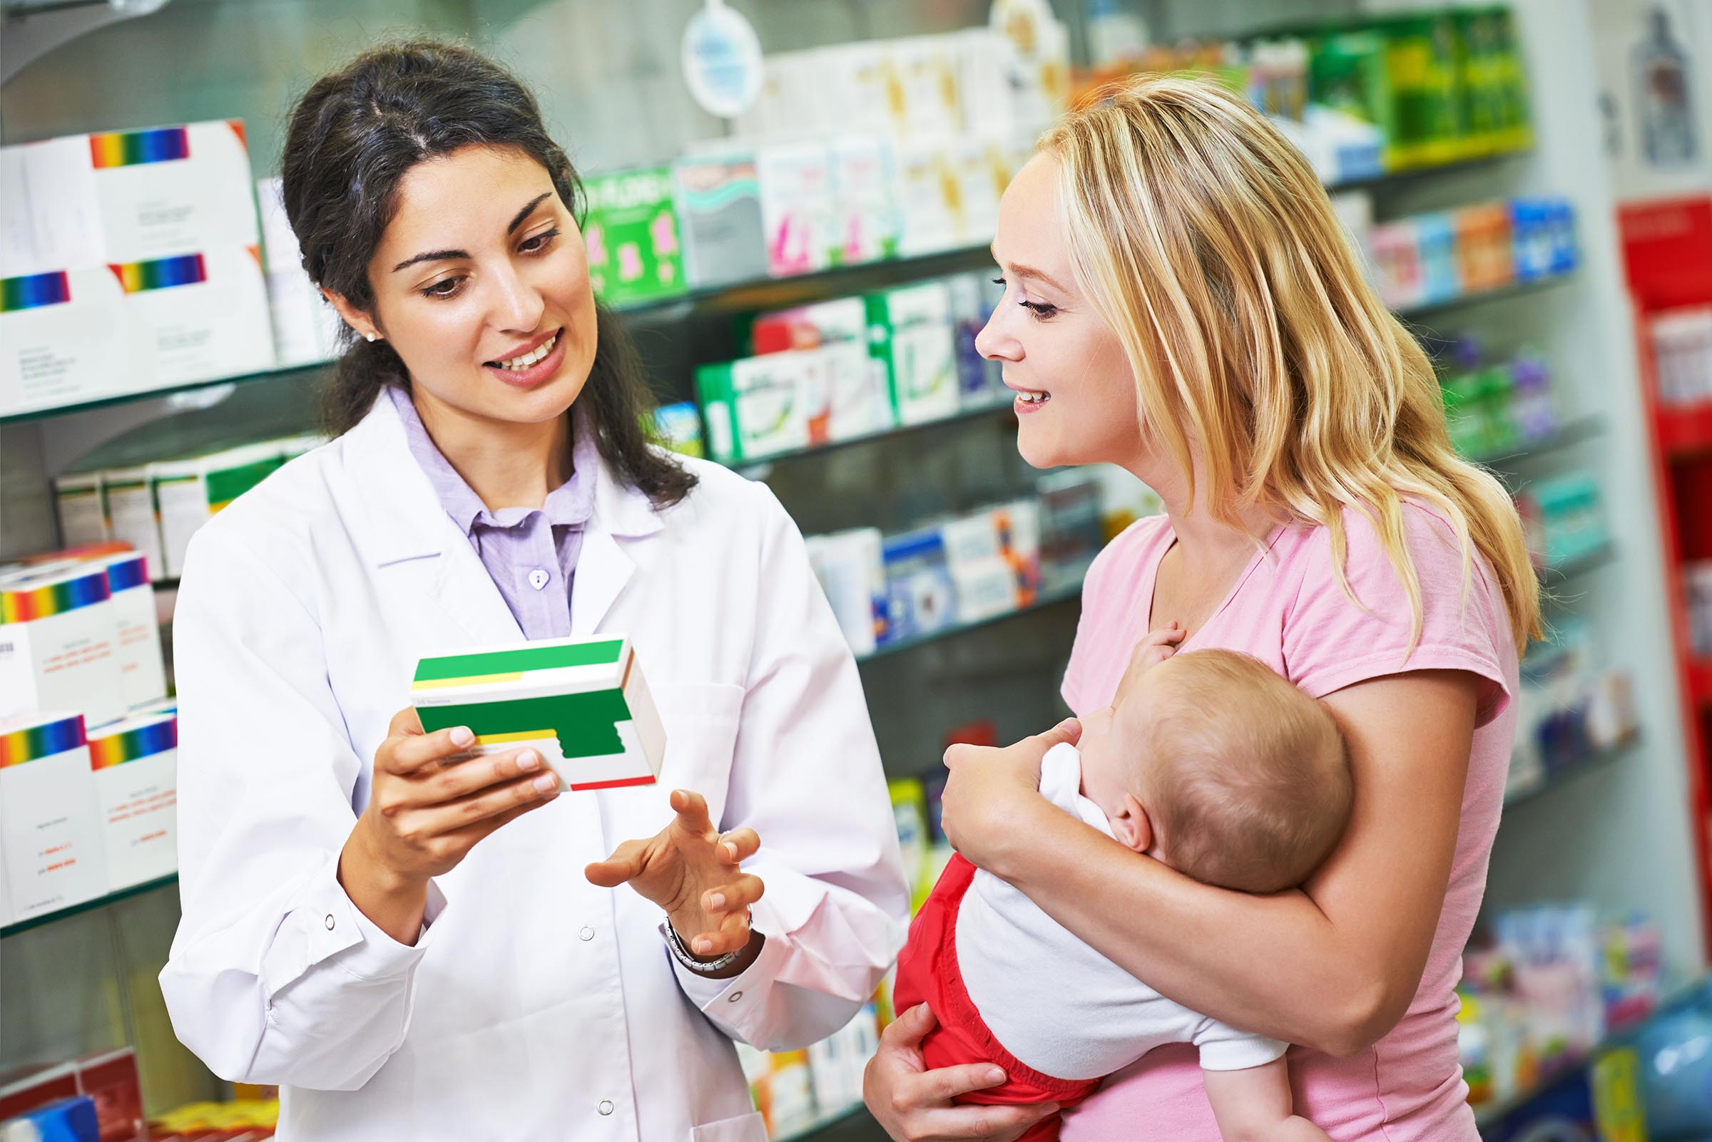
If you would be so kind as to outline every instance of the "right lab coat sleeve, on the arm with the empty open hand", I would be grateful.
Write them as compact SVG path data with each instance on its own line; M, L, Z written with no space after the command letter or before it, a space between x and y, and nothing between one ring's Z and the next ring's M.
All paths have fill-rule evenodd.
M680 986L733 1039L794 1050L868 1002L909 923L897 827L856 660L765 484L755 641L721 829L750 826L765 882L765 945L741 974L709 980L673 961ZM669 952L668 952L669 954Z

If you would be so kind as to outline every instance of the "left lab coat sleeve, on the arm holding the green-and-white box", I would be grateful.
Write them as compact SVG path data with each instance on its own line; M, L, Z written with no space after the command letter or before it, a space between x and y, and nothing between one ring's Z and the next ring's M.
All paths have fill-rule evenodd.
M397 944L339 886L368 766L315 614L219 523L192 540L173 624L183 916L161 992L219 1077L351 1091L404 1039L431 925Z

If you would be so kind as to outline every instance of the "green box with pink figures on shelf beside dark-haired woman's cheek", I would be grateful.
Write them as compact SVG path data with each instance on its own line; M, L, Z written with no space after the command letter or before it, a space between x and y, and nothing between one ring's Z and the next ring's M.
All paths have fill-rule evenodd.
M582 239L596 296L609 306L625 306L681 294L683 241L671 171L656 166L591 174L584 191L589 214Z

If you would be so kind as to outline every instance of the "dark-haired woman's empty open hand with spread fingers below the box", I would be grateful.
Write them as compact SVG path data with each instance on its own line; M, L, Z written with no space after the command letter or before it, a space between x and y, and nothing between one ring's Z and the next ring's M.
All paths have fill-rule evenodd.
M702 957L748 944L748 909L765 891L760 877L738 865L755 855L755 829L721 834L700 793L673 790L676 815L645 841L625 841L606 860L584 868L591 884L628 884L664 911L680 939Z

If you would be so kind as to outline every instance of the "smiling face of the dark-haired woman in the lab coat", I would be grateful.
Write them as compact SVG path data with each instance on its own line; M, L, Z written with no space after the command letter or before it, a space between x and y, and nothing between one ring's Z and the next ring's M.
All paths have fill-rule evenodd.
M464 147L411 168L368 277L375 325L418 402L539 424L589 378L596 315L582 234L522 150Z

